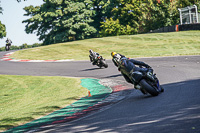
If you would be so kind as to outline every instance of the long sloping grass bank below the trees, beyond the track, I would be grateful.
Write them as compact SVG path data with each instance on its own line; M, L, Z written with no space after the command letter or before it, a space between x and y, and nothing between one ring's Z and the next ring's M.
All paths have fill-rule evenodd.
M124 35L73 41L15 52L15 59L88 60L89 49L106 59L116 51L127 57L200 55L200 31Z

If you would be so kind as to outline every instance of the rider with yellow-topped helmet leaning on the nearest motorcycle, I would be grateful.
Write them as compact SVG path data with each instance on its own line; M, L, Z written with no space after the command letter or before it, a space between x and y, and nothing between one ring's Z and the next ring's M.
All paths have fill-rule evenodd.
M151 72L153 72L153 69L151 69L151 67L148 64L146 64L142 61L128 59L124 55L121 55L116 52L112 52L111 56L112 56L112 61L114 62L115 66L118 67L118 70L121 71L121 74L123 75L123 77L125 78L125 80L128 83L133 84L133 82L131 81L129 76L134 71L140 71L140 72L151 71ZM135 65L144 66L145 68L136 67ZM137 85L136 86L134 85L134 87L136 89L139 89L139 86L137 86Z

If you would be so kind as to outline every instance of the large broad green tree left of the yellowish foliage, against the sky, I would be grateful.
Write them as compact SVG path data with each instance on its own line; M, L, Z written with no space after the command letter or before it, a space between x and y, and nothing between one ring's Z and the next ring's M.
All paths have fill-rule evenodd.
M96 29L90 25L93 11L90 0L44 0L36 7L25 7L26 33L36 32L44 44L79 40L94 36Z

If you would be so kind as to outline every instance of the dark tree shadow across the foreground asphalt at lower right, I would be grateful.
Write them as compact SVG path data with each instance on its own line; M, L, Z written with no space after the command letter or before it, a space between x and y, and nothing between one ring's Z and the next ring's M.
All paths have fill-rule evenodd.
M139 91L118 106L49 132L200 132L200 79L165 84L157 97Z

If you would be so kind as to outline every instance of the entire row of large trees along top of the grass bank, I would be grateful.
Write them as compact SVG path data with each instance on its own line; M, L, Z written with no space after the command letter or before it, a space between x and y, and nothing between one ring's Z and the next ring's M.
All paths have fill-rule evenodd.
M25 0L24 0L25 1ZM179 23L178 8L197 0L43 0L25 7L26 32L44 44L149 32ZM200 7L199 7L200 10Z

